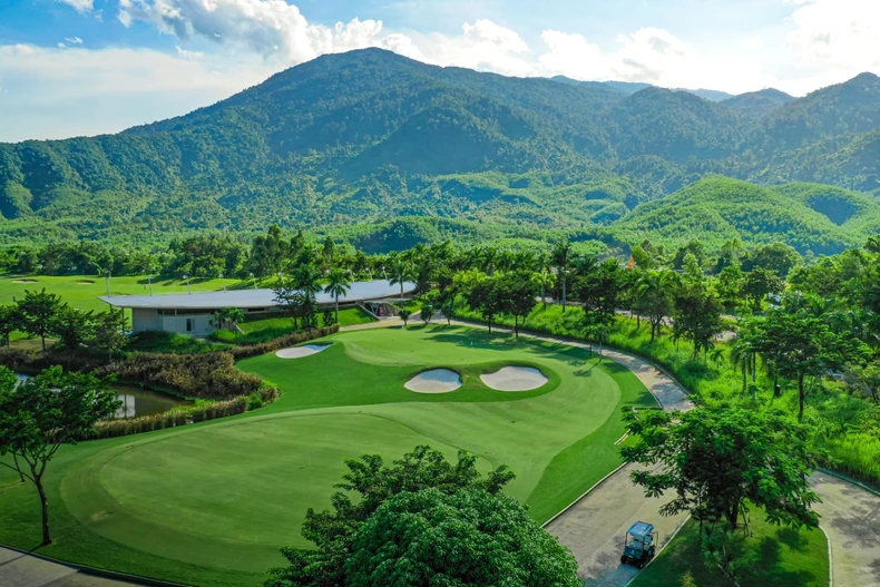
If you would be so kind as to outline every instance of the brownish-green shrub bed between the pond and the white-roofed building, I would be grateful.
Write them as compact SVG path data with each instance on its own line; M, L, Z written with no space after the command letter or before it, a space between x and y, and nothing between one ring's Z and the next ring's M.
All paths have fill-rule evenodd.
M202 354L133 353L98 369L120 380L173 389L190 398L227 400L260 389L263 380L235 368L225 352Z

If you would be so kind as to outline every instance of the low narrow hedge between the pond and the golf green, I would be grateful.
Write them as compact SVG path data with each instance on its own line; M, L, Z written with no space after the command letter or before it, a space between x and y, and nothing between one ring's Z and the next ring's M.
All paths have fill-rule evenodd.
M261 408L274 402L281 392L277 388L263 388L252 392L250 395L242 395L233 400L213 402L203 405L189 405L185 408L174 408L167 412L153 415L141 415L126 420L106 420L95 425L94 438L116 438L128 434L163 430L165 428L176 428L195 422L206 422L227 415L236 415L246 411Z

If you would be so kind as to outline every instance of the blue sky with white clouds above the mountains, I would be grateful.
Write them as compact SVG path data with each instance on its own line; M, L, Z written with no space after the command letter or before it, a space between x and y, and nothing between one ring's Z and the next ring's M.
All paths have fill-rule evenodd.
M880 0L0 0L0 141L116 133L365 47L802 96L880 74Z

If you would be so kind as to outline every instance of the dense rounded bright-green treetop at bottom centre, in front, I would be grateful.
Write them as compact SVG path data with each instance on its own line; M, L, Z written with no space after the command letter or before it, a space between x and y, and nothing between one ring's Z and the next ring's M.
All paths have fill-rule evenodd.
M430 488L385 501L353 537L346 584L579 587L571 552L512 497Z

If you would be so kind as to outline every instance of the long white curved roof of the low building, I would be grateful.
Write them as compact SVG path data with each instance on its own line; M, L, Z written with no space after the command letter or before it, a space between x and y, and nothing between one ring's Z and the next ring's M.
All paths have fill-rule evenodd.
M403 293L411 293L415 284L405 282ZM391 285L384 280L355 282L340 302L363 302L400 295L400 284ZM319 304L333 301L333 296L323 292L316 296ZM198 292L192 294L159 295L102 295L98 300L115 307L156 309L156 310L218 310L221 307L270 307L278 305L272 290L229 290L226 292Z

